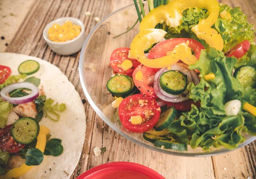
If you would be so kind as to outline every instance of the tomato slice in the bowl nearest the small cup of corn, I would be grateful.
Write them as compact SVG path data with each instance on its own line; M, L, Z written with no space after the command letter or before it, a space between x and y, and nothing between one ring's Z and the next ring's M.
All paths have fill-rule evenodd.
M138 65L140 65L140 62L138 60L132 60L132 59L128 58L129 50L131 50L131 49L126 48L126 47L116 48L111 54L110 65L114 71L116 71L120 74L127 74L127 75L131 76L134 69ZM130 69L128 69L126 71L124 71L121 67L118 67L125 60L130 60L133 65Z

